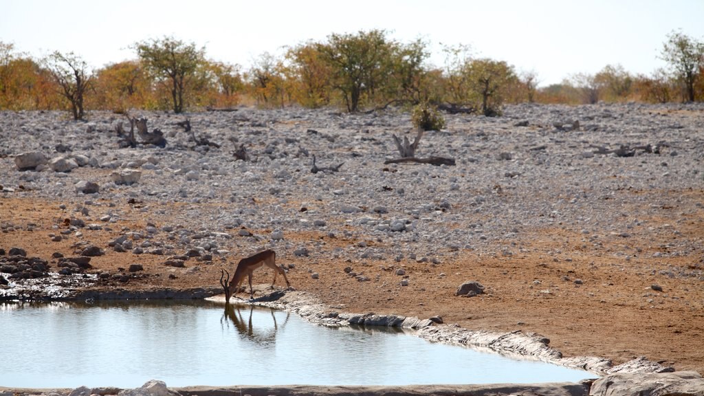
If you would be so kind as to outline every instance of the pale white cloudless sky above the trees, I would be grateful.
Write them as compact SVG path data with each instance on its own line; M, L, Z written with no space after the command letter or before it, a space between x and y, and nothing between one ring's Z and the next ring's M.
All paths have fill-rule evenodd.
M41 57L73 51L94 68L136 58L130 45L174 36L208 58L249 66L264 51L330 33L384 29L535 70L541 85L620 63L631 73L664 66L667 33L704 39L704 0L0 0L0 41Z

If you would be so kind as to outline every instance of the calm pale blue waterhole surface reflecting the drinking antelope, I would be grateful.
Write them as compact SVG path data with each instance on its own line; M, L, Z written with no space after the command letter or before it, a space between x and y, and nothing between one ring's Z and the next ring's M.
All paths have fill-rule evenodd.
M210 302L0 303L0 386L539 383L593 378L399 332Z

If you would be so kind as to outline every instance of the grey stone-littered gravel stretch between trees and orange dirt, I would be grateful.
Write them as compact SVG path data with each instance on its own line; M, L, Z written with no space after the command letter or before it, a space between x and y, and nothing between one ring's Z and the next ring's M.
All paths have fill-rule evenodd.
M1 111L0 197L78 205L87 223L106 224L120 218L115 202L139 202L135 210L159 221L133 232L213 254L256 245L315 259L333 253L311 236L321 235L352 241L336 245L336 256L439 263L461 249L507 256L521 248L517 235L544 228L572 230L590 245L671 233L664 256L701 242L674 237L682 212L662 227L648 218L689 210L658 191L704 186L703 104L522 104L500 118L446 115L447 129L426 132L416 155L452 157L456 166L385 165L397 156L391 134L415 136L408 114L396 111L139 116L164 132L165 148L119 148L123 116L113 113L89 113L87 128L61 112ZM191 141L176 125L185 118L199 139L220 147ZM598 148L646 144L659 153ZM240 145L251 161L234 157ZM14 157L31 152L54 165L19 171ZM313 155L320 168L343 165L311 173Z

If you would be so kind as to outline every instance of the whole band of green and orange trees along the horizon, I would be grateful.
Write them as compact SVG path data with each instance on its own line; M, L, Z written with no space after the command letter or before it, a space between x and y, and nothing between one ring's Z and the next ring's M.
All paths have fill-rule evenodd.
M589 104L598 101L701 101L704 44L672 32L660 58L667 70L633 75L608 65L539 87L534 71L444 48L443 66L428 64L427 42L402 43L384 30L332 34L322 42L261 54L248 70L208 58L205 47L174 37L132 45L135 58L92 70L81 56L54 52L41 59L0 41L0 109L184 110L340 106L349 112L389 105L432 104L450 111L501 114L505 103Z

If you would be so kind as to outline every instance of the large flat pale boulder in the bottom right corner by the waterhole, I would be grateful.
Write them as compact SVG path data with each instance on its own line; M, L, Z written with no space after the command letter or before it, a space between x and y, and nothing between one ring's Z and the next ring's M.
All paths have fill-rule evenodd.
M704 378L696 371L612 374L595 380L589 396L704 396Z

